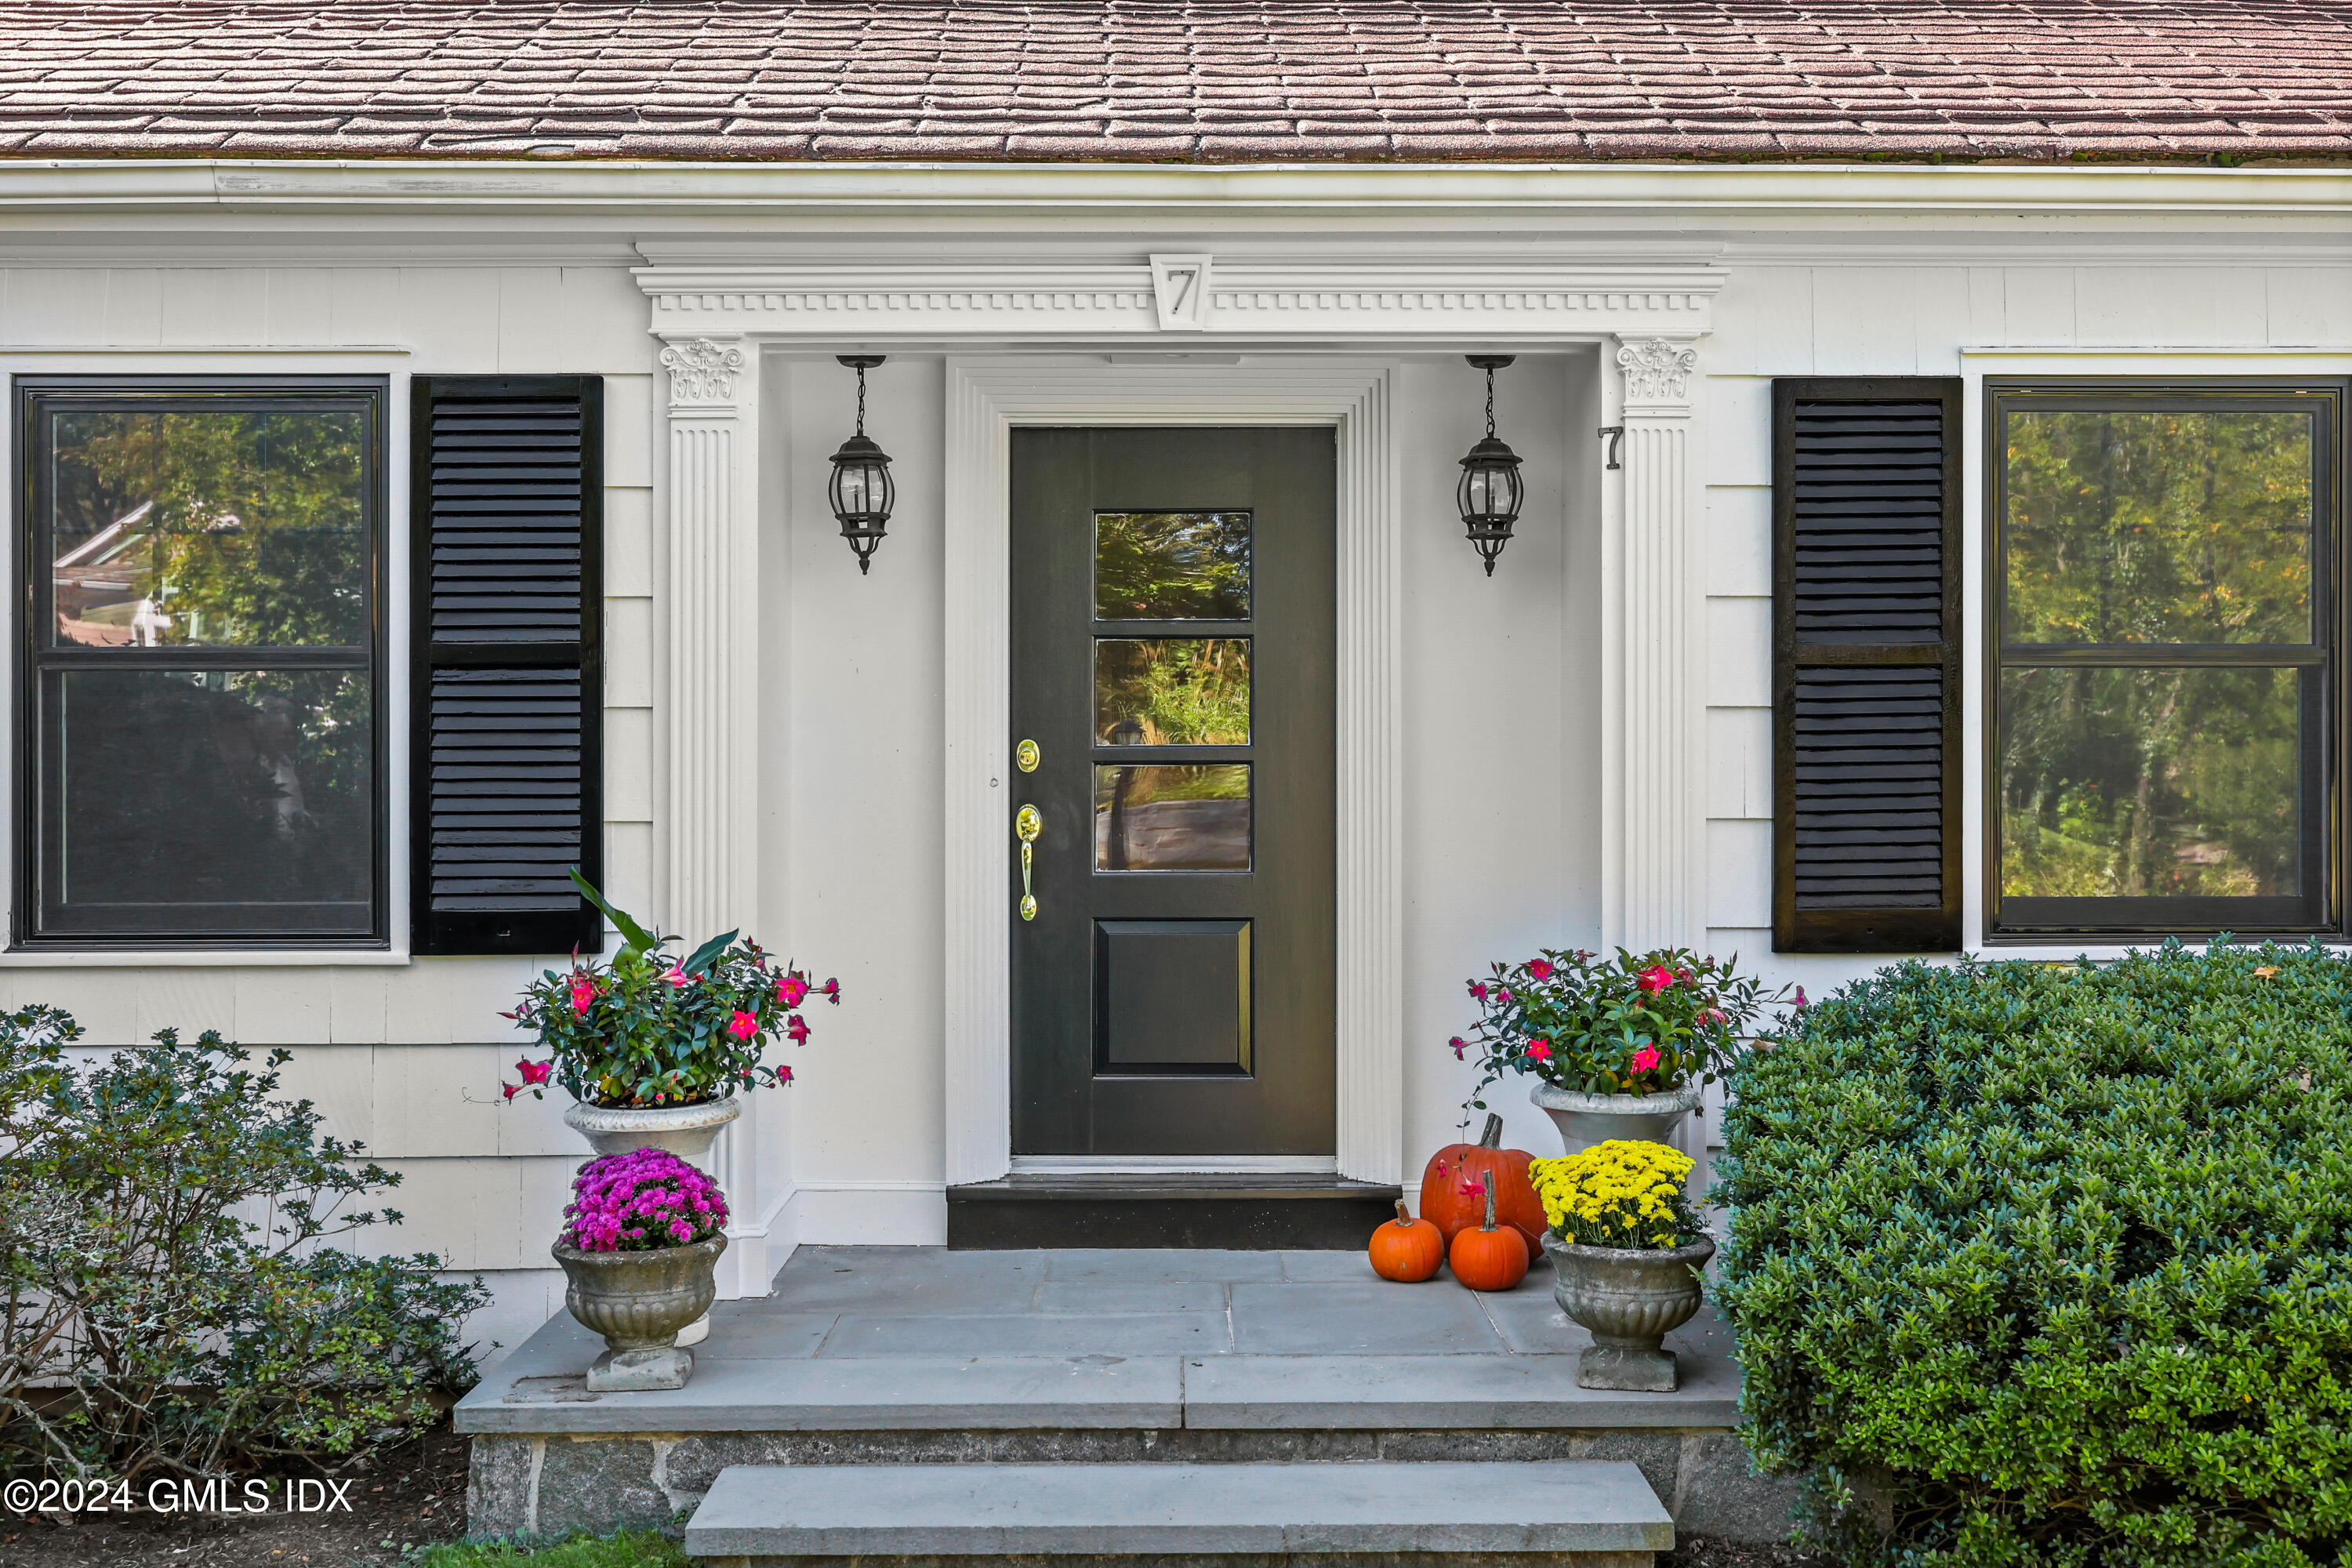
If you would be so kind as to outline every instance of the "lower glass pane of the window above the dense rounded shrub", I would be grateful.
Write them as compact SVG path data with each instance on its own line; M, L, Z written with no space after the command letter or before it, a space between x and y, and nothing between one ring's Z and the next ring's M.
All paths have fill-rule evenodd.
M2002 670L2002 893L2303 893L2298 670Z

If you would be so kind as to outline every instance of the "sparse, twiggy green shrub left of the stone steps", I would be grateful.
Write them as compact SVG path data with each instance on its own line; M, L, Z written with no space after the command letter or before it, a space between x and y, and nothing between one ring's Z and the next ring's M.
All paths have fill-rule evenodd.
M332 1462L473 1380L487 1291L355 1258L397 1185L216 1034L75 1065L54 1009L0 1018L0 1462L139 1481Z

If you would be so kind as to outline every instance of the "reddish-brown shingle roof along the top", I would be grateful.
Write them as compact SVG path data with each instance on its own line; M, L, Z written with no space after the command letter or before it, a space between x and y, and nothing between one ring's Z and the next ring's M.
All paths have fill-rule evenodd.
M0 0L0 153L2352 160L2352 0Z

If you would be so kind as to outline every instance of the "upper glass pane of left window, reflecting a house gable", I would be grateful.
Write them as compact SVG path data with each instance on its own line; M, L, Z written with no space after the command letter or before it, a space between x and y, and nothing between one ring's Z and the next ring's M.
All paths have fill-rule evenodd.
M56 416L56 639L367 642L367 416Z

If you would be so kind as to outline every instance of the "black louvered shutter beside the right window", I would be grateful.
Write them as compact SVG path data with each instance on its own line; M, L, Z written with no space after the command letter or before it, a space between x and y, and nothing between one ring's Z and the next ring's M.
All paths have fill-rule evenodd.
M1773 381L1773 950L1959 943L1959 381Z

